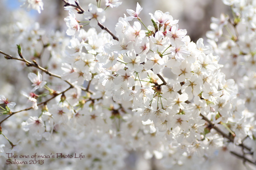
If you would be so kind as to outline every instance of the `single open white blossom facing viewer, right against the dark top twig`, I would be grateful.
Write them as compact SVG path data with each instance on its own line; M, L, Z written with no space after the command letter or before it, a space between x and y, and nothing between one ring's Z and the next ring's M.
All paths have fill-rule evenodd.
M96 27L98 21L104 23L106 20L105 11L102 8L98 8L96 5L89 4L89 12L84 12L84 18L90 20L90 26Z

